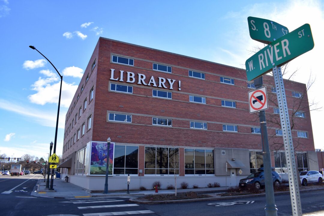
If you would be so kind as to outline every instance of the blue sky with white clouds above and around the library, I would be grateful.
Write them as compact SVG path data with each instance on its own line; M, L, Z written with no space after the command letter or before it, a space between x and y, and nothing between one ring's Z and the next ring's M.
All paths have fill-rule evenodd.
M54 142L59 77L63 75L56 153L64 120L99 37L245 68L253 47L247 17L273 20L290 31L309 23L315 47L289 70L315 83L309 101L323 107L323 1L22 1L0 0L0 153L46 157ZM83 25L82 25L83 24ZM321 109L322 110L322 109ZM312 111L315 148L324 149L322 111Z

